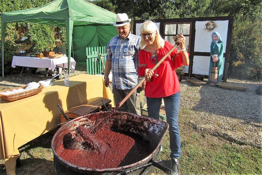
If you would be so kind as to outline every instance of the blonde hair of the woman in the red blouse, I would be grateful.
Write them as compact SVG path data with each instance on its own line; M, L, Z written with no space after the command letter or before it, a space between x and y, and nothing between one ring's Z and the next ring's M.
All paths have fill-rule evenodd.
M165 40L160 36L159 34L159 30L156 26L156 24L151 21L151 20L145 20L142 24L142 26L140 27L140 33L141 34L148 34L148 33L153 33L155 32L157 33L155 41L157 43L157 46L159 46L160 48L164 48L165 45ZM144 49L147 46L145 40L141 39L140 41L140 48Z

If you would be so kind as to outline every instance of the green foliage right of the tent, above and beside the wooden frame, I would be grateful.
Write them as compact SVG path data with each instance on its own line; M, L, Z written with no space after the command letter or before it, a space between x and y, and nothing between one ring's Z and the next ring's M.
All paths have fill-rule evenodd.
M234 16L229 75L262 79L261 0L110 1L116 6L116 13L126 13L129 18L136 20Z

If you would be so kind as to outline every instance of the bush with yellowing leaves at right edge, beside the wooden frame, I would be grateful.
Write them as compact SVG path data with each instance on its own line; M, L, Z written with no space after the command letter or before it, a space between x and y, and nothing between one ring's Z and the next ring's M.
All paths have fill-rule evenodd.
M261 14L253 19L235 19L229 58L230 76L250 80L262 79L261 21Z

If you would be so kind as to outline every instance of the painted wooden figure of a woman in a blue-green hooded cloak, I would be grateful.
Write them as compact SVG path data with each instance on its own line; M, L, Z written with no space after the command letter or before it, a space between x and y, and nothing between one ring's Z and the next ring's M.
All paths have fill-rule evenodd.
M209 70L214 67L214 62L216 62L216 67L218 70L217 75L217 82L222 81L223 77L223 70L224 70L224 61L223 61L223 54L224 54L224 43L221 40L220 34L218 32L213 32L211 35L212 42L210 45L210 64ZM210 82L210 71L208 74L208 82Z

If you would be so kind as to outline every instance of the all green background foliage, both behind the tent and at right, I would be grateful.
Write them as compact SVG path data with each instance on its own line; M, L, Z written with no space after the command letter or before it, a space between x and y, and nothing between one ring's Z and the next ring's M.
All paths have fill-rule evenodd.
M0 0L0 12L39 7L52 0ZM229 58L229 75L241 78L262 79L262 2L261 0L86 0L114 13L126 13L133 20L161 18L191 18L234 16L232 42ZM132 24L132 23L131 23ZM1 25L1 24L0 24ZM53 26L25 24L36 50L53 48ZM131 28L133 29L133 27ZM62 45L67 46L66 29L60 28ZM10 67L17 31L14 23L8 23L5 41L5 71L17 72ZM1 48L0 48L1 49ZM2 65L1 65L2 67ZM240 78L240 77L238 77Z

